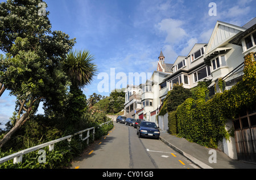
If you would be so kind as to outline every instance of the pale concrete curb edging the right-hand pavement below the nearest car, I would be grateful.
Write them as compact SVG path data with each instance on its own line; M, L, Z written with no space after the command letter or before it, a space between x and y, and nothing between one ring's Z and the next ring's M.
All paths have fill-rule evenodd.
M165 144L167 144L171 148L175 149L177 152L179 152L184 157L188 158L188 160L192 161L194 164L196 164L200 168L202 168L202 169L213 169L212 167L208 166L207 164L204 164L204 162L201 162L201 161L197 160L197 158L189 155L188 153L185 153L184 151L181 151L179 148L175 147L175 145L173 145L170 142L168 142L167 140L163 139L161 136L159 137L159 139L162 140L162 142L164 142Z

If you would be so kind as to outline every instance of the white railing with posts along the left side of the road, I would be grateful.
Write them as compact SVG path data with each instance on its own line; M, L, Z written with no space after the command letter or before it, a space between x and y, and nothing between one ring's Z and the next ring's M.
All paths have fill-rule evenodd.
M112 121L108 121L108 122L102 123L100 126L108 124L110 122L112 122ZM9 161L11 159L14 159L14 161L13 161L14 164L18 164L19 162L22 162L22 156L23 155L26 155L27 153L36 151L38 149L42 149L42 148L47 147L47 146L49 146L49 151L53 151L55 143L61 142L63 140L68 140L68 142L71 142L71 138L73 136L76 136L76 135L79 135L82 141L87 140L86 143L89 144L90 130L93 130L93 134L92 135L93 135L93 139L94 139L95 127L86 128L85 130L76 132L73 135L69 135L69 136L65 136L63 138L52 140L51 142L47 142L47 143L44 143L44 144L36 145L34 147L31 147L31 148L24 149L22 151L16 152L16 153L14 153L12 155L9 155L9 156L6 156L6 157L2 157L2 158L0 158L0 164L3 163L3 162ZM84 132L87 132L87 134L86 134L85 138L82 138L82 133L84 133Z

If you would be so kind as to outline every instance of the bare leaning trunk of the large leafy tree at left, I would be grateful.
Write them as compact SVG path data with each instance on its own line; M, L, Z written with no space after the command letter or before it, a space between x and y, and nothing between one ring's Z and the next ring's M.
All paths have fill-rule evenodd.
M0 148L2 148L3 145L11 139L11 136L19 129L19 127L23 124L23 122L26 121L30 112L31 112L31 108L29 108L27 113L23 114L22 117L19 118L18 121L16 121L15 126L11 128L11 130L7 132L5 136L3 136L3 139L0 142Z

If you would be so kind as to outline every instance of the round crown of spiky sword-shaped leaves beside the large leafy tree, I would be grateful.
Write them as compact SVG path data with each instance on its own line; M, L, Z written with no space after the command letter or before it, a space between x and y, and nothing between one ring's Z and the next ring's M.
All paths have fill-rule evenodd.
M88 50L72 50L69 52L63 63L63 70L68 75L73 86L82 88L92 82L96 75L96 65L92 62L93 55Z

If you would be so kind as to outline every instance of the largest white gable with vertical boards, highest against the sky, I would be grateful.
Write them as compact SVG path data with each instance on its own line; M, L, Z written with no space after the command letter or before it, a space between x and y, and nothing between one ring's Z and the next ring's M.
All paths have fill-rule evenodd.
M212 54L214 50L220 46L228 44L229 40L238 33L245 31L246 28L237 25L217 21L212 36L208 42L204 57Z

